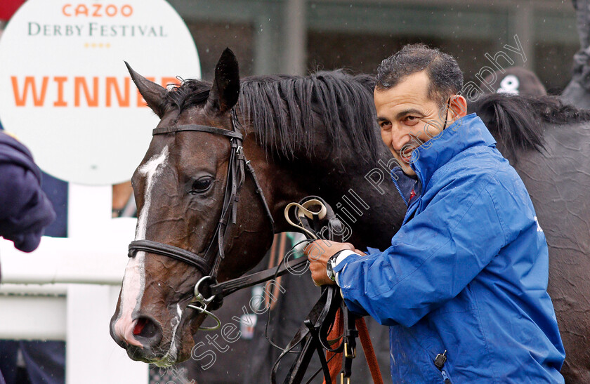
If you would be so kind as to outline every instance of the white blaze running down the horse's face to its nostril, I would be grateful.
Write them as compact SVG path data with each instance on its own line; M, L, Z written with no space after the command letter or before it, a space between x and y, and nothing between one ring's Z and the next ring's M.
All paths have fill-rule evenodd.
M152 205L152 190L159 176L160 171L164 168L168 159L168 146L160 154L152 157L147 163L138 169L138 172L145 176L145 198L143 207L138 213L136 240L145 239L147 229L147 218ZM127 343L141 347L141 344L133 337L133 326L135 322L132 319L133 312L138 310L143 298L145 289L145 252L138 251L135 257L129 258L125 275L123 277L123 288L121 290L121 304L119 307L119 317L114 324L114 332Z

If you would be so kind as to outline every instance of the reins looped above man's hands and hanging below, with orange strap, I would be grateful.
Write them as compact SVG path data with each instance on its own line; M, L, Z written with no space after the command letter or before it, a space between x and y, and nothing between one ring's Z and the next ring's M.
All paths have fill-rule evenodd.
M291 220L289 214L292 207L296 208L296 220ZM325 238L325 227L322 227L322 223L327 222L328 239L343 241L339 235L343 233L343 224L320 197L310 196L299 203L288 204L285 208L285 219L303 231L309 241L318 237ZM298 353L287 377L284 378L284 384L301 383L313 355L316 354L320 359L321 368L306 383L310 383L317 373L322 372L325 384L335 383L337 376L340 376L341 384L350 384L352 362L356 357L356 338L360 336L373 382L383 384L365 319L348 310L338 286L327 285L321 289L320 300L315 303L303 325L299 327L287 347L280 348L282 352L271 371L270 383L277 383L277 369L282 358L289 353ZM274 345L272 342L271 344ZM301 349L294 352L297 345L300 345Z

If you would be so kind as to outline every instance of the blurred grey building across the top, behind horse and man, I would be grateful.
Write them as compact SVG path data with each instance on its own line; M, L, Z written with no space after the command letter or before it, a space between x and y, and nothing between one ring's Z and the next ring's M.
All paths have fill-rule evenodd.
M561 0L169 0L195 38L204 79L225 46L242 75L346 67L374 72L403 44L438 46L466 81L501 50L551 92L568 84L577 51L575 12ZM517 35L527 61L504 49ZM500 60L500 62L502 62ZM504 66L504 64L502 64ZM509 65L505 65L508 67ZM484 74L485 76L485 74Z

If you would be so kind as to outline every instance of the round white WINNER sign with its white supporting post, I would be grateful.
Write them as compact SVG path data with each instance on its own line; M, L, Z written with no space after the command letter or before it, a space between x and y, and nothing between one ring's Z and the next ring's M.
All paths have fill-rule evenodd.
M176 75L200 77L190 32L164 0L28 0L0 39L0 119L41 169L70 182L68 232L77 244L110 240L112 184L131 178L158 121L124 60L163 86ZM125 247L118 257L126 258ZM11 270L3 273L10 278ZM147 382L147 366L110 338L119 289L67 286L67 383Z

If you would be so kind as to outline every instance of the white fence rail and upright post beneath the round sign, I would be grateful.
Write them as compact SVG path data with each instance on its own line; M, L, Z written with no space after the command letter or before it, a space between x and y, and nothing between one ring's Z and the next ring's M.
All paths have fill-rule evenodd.
M109 191L70 185L67 239L43 237L32 253L0 239L0 338L65 340L67 384L148 381L109 333L136 225L110 219Z

